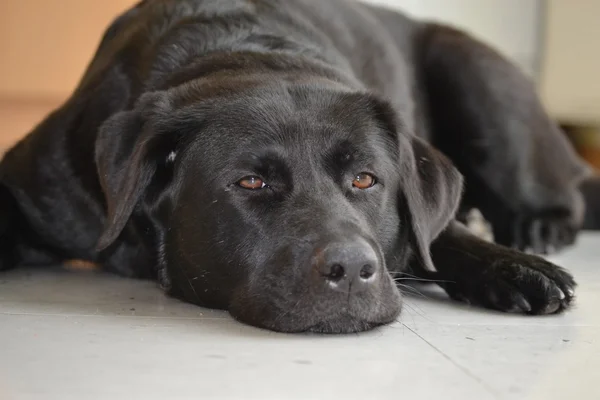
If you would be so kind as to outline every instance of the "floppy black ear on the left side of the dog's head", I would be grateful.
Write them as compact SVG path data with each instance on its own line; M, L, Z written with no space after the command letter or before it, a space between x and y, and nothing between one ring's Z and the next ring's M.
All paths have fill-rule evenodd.
M147 95L135 109L108 119L98 132L96 166L107 208L98 250L110 246L121 234L159 162L167 157L168 147L152 123L155 100Z

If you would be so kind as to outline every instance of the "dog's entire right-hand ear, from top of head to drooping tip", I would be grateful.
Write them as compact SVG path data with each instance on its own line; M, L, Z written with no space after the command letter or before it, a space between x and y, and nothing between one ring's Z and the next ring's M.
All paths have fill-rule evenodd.
M399 207L410 226L411 240L423 268L434 271L429 247L454 217L463 178L452 162L427 142L412 135L396 109L371 98L379 127L393 138L398 159Z

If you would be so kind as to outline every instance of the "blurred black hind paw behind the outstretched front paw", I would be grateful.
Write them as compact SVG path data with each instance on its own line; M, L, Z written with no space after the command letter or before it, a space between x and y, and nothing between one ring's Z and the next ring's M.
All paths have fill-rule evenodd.
M570 216L545 214L517 215L493 225L497 243L536 254L572 245L579 230Z

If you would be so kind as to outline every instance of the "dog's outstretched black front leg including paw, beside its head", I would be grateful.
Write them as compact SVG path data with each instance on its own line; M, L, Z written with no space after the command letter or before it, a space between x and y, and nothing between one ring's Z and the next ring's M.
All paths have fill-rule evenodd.
M434 279L455 300L506 312L552 314L567 308L575 281L544 259L485 242L453 222L431 247Z

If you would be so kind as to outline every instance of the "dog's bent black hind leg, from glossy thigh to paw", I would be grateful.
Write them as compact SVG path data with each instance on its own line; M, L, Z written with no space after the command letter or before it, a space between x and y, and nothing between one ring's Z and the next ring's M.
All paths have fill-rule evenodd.
M417 47L431 141L465 176L464 206L481 210L500 244L538 253L571 244L589 169L532 82L455 29L427 25Z

